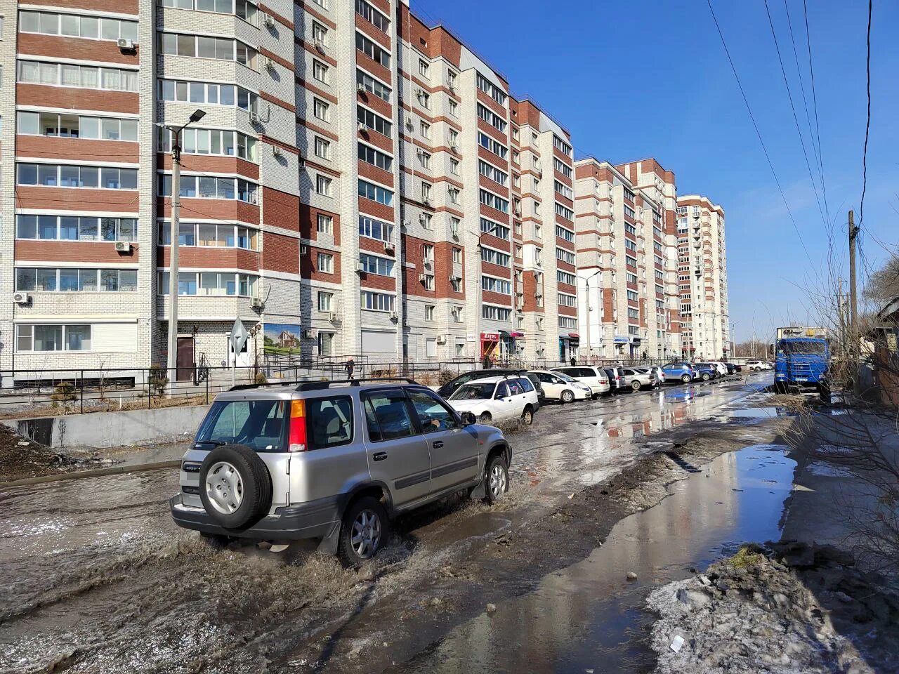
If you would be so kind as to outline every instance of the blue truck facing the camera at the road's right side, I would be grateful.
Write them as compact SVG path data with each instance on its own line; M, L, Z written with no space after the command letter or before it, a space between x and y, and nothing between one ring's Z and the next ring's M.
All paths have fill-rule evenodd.
M775 391L788 393L814 389L822 397L828 393L827 373L831 364L831 350L826 328L778 328L776 347Z

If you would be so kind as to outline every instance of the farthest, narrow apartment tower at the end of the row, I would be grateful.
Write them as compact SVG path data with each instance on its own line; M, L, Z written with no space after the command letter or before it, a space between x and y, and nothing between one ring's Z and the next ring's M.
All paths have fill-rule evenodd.
M727 358L725 212L707 197L677 200L678 288L684 350L695 359Z

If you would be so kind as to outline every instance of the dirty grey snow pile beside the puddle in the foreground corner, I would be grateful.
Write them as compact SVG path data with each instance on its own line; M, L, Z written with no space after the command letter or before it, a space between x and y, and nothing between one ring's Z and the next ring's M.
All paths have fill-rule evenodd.
M649 596L655 671L899 671L899 593L885 582L830 545L744 546Z

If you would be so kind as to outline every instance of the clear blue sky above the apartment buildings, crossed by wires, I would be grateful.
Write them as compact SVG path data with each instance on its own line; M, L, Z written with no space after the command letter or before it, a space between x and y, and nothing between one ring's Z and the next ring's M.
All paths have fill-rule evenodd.
M681 194L699 192L725 208L731 321L738 341L752 335L753 325L761 337L771 326L804 322L803 288L830 294L816 271L810 272L705 0L411 2L426 22L444 22L506 75L513 93L532 97L560 120L572 133L575 155L612 163L654 156L675 172ZM811 112L803 4L787 2ZM809 256L823 267L828 236L765 4L712 4ZM783 0L769 5L815 171L785 5ZM875 0L863 269L886 257L876 238L894 248L899 239L897 19L899 3ZM862 0L808 2L824 182L841 251L847 210L855 208L857 224L859 218L867 21L868 4ZM845 260L842 255L844 265Z

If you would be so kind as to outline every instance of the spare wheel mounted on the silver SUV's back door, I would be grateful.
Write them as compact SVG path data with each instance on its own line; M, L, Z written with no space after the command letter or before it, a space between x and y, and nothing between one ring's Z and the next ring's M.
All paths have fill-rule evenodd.
M245 445L217 447L200 466L200 501L222 527L251 527L271 508L269 469Z

